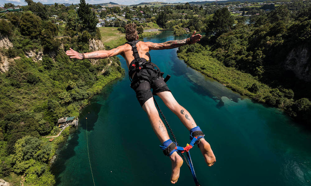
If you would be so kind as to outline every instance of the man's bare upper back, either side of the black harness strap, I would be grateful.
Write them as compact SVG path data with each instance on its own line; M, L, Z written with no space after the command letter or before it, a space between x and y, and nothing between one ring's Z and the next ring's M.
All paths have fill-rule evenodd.
M121 55L126 60L126 64L129 67L132 60L135 59L132 51L132 46L126 43L122 45L122 47L123 53ZM136 47L139 57L145 58L146 60L150 60L149 57L146 55L146 53L149 51L149 46L146 42L143 41L137 42Z

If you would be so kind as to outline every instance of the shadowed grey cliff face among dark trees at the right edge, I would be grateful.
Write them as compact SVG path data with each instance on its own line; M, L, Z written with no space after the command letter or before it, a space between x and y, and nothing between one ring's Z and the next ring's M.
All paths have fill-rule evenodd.
M287 55L284 66L295 73L296 77L311 81L311 47L309 44L295 47Z

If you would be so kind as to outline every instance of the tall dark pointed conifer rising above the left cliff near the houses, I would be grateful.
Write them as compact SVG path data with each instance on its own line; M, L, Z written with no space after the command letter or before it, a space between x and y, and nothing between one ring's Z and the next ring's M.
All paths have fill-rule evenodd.
M98 21L95 18L95 13L91 11L89 3L86 4L85 0L80 0L77 13L81 20L82 32L83 30L90 33L95 32Z

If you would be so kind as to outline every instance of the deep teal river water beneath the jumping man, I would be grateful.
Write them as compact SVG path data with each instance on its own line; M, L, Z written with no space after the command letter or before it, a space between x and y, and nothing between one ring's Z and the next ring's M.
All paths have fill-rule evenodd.
M165 42L186 37L164 32L144 40ZM208 167L199 149L191 150L202 186L311 185L309 131L280 110L255 103L204 77L178 59L176 51L150 53L152 62L172 76L170 90L192 114L216 155L217 162ZM119 57L126 69L125 60ZM51 168L57 186L171 185L170 160L160 150L129 84L126 73L104 87L82 110L77 132L69 136ZM189 143L187 129L160 98L156 96L156 100L179 144L185 146ZM194 185L186 163L175 185Z

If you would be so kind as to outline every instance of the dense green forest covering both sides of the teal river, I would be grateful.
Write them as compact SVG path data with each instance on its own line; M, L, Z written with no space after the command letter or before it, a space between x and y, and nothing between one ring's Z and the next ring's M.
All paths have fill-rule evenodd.
M78 116L91 96L124 74L118 57L90 61L65 54L69 47L81 52L110 48L100 41L96 16L124 14L128 22L137 24L139 33L146 22L174 29L176 36L185 34L185 28L205 32L199 43L178 50L190 67L311 124L309 0L278 6L267 1L239 7L241 2L226 1L123 10L105 7L100 13L91 8L103 7L85 0L68 7L25 2L23 12L6 13L0 20L0 40L7 44L0 47L0 58L10 63L0 73L0 178L20 183L22 176L29 185L53 185L49 163L69 127L52 143L41 136L58 134L60 117ZM234 15L233 7L247 15L250 24L245 24L245 16ZM121 20L107 22L123 33L124 25Z

